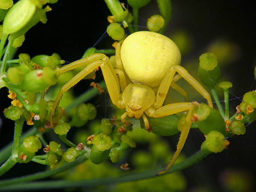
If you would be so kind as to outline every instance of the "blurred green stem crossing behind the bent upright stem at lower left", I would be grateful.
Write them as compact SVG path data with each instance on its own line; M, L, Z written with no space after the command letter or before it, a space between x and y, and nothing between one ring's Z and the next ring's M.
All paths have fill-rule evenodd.
M36 134L38 134L38 129L33 127L29 131L26 131L26 133L21 136L20 142L23 142L24 138L28 137L29 135L36 135ZM1 149L0 164L3 163L5 160L7 160L8 157L10 157L10 155L12 154L12 145L13 143L9 143L8 145L6 145L4 148Z

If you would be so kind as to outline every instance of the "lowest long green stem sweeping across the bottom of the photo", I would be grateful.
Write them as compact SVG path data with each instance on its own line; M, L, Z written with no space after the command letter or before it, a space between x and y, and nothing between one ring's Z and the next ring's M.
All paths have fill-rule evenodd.
M205 157L207 157L209 153L204 151L198 151L197 153L193 154L188 159L184 160L183 162L177 163L171 167L171 169L166 173L172 173L175 171L180 171L186 168L189 168L190 166L194 165L195 163L198 163L199 161L203 160ZM136 174L130 174L125 175L121 177L108 177L108 178L100 178L100 179L90 179L90 180L77 180L77 181L68 181L68 180L59 180L59 181L38 181L38 182L29 182L29 183L16 183L10 185L10 181L6 183L7 181L0 182L0 185L2 186L2 183L5 184L5 186L0 187L0 190L12 190L12 189L19 189L19 190L35 190L35 189L63 189L63 188L74 188L74 187L88 187L88 186L100 186L100 185L110 185L113 183L123 183L128 181L135 181L135 180L142 180L142 179L148 179L151 177L156 177L156 172L160 171L160 169L154 169L148 172L143 173L136 173ZM166 175L163 174L163 175ZM157 177L160 177L162 175L159 175ZM20 181L19 181L20 182Z

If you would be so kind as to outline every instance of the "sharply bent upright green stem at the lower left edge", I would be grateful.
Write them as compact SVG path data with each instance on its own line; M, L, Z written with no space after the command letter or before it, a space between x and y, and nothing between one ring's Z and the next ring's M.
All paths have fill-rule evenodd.
M20 136L23 128L24 119L20 118L15 121L14 138L12 145L12 155L9 159L0 167L0 176L8 172L16 163L18 159L18 150L20 146Z

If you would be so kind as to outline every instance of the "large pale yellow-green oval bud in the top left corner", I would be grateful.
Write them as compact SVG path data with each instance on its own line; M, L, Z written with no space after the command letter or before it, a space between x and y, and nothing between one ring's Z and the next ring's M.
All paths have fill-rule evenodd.
M36 6L30 0L20 0L12 6L3 21L3 32L12 34L22 29L32 18Z

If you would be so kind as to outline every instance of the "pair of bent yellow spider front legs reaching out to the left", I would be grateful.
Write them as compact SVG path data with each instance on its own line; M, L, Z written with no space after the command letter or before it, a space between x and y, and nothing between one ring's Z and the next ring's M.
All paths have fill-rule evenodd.
M52 128L53 128L52 117L54 116L55 110L58 107L58 103L63 93L65 93L67 90L69 90L79 81L81 81L81 79L83 79L89 73L93 72L93 70L95 70L97 67L100 67L102 69L102 74L105 79L106 86L108 87L108 92L109 92L111 101L113 102L114 105L118 104L119 93L120 93L119 81L116 77L116 73L113 69L113 66L109 61L109 58L104 54L96 53L96 54L90 55L87 58L74 61L71 64L61 67L61 69L58 72L58 75L84 65L86 65L86 67L83 70L81 70L81 72L76 74L76 76L74 76L70 81L64 84L64 86L61 88L60 92L58 93L58 96L55 99L55 102L52 106L52 111L51 111L50 123Z

